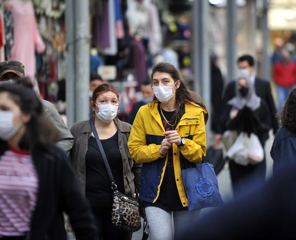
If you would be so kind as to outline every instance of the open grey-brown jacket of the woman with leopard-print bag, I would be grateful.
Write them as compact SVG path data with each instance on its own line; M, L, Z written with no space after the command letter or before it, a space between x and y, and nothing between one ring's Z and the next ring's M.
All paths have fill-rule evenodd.
M118 130L118 149L122 158L125 194L134 197L135 184L138 192L140 192L142 163L135 162L129 154L127 141L130 135L131 125L127 122L120 121L117 118L114 119L114 122ZM88 146L88 139L91 137L92 133L89 120L74 123L70 132L74 136L74 144L70 152L70 159L74 166L81 189L85 194L85 155Z

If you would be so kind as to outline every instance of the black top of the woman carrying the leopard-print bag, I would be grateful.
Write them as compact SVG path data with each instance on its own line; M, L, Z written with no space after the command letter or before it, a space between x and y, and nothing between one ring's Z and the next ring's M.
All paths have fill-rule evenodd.
M118 191L125 193L122 158L118 148L118 133L101 140ZM112 202L111 181L96 139L90 137L85 155L86 185L85 196L91 206L110 207Z

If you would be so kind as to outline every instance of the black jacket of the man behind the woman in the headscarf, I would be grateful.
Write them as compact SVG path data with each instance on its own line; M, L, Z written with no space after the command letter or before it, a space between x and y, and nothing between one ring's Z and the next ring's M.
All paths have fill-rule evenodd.
M265 102L268 106L269 114L270 114L270 118L271 118L271 122L272 122L273 133L276 134L276 131L279 128L279 124L276 119L276 110L275 110L274 101L273 101L273 98L271 95L269 82L256 77L255 78L255 91L259 97L261 97L262 99L265 100ZM227 85L227 87L223 93L223 96L222 96L223 109L226 108L228 100L230 100L233 97L235 97L235 81L231 81ZM223 123L220 123L220 124L223 125ZM219 132L222 133L221 131L222 131L222 129L220 127Z

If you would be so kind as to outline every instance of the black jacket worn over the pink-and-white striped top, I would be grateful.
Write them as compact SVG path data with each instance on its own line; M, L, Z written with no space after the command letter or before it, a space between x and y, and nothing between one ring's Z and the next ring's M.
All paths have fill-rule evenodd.
M7 150L0 141L0 155ZM30 240L67 240L63 211L79 240L95 240L96 229L90 209L63 150L56 146L32 150L38 177L36 208L31 219Z

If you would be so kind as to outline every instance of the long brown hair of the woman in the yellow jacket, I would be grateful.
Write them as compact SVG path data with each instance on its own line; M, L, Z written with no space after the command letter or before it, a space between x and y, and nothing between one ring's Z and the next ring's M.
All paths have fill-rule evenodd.
M195 94L193 91L189 90L186 83L182 80L180 72L176 67L167 62L159 62L153 66L151 79L155 72L165 72L171 75L175 82L180 80L180 87L176 90L176 115L180 119L182 117L182 105L185 103L193 102L202 109L206 110L206 106L203 103L201 97L198 94ZM153 101L157 101L157 98L154 96ZM207 123L209 115L208 113L204 114L205 123Z

